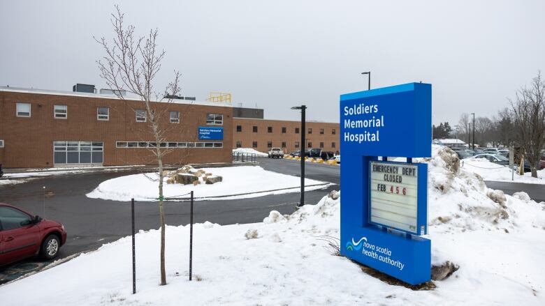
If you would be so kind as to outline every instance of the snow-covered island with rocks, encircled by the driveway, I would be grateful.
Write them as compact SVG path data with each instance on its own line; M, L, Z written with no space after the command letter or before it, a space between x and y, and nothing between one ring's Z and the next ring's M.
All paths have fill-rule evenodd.
M163 184L164 197L189 197L194 190L197 199L244 199L268 194L298 192L300 178L264 170L257 166L204 168L223 181L212 185ZM151 179L150 179L151 178ZM155 181L154 181L155 180ZM154 201L157 199L157 174L133 174L104 181L87 197L114 201ZM165 180L166 181L166 180ZM325 188L330 183L305 178L305 190Z

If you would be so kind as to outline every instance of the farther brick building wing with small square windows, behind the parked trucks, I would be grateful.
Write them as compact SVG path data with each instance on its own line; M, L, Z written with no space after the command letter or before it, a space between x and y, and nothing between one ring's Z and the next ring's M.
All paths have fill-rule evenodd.
M307 121L305 144L301 144L300 121L268 120L259 118L233 118L233 148L254 148L268 152L269 148L282 148L284 152L301 148L322 148L339 151L339 123Z

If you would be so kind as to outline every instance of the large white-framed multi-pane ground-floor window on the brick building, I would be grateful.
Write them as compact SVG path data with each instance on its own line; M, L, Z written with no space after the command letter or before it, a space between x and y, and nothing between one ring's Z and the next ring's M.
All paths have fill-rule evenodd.
M54 164L102 164L101 141L53 141Z

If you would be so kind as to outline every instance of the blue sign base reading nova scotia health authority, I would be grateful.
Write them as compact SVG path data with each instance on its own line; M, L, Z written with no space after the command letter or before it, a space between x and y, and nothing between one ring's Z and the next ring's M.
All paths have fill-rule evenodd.
M412 285L431 278L431 240L375 226L341 229L341 254Z

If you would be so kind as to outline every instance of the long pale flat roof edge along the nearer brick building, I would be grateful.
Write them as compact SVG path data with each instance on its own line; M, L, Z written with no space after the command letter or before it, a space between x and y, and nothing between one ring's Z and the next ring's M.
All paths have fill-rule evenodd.
M13 93L38 93L41 95L69 95L73 97L83 97L83 98L101 98L101 99L113 99L113 100L130 100L130 101L142 101L141 99L129 96L125 98L119 98L115 94L104 94L104 93L80 93L76 91L56 91L50 89L26 89L22 87L11 87L11 86L0 86L0 91L13 92ZM167 103L168 99L157 101L152 100L151 102ZM208 102L208 101L195 101L195 100L181 100L181 99L170 99L168 103L175 104L189 104L189 105L205 105L205 106L215 106L215 107L233 107L233 105L220 104L218 102Z

